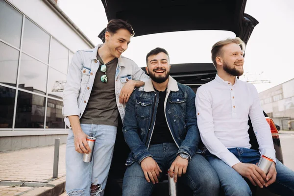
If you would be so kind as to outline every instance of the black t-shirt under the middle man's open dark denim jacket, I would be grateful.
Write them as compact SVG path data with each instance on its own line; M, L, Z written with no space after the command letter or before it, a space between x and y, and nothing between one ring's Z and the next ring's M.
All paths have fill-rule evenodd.
M159 102L150 144L174 143L164 113L164 100L166 98L167 90L157 92L159 95Z

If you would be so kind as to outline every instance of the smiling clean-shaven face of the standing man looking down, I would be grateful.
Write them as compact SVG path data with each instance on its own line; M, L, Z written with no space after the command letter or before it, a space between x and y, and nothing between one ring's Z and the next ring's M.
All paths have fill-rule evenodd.
M127 49L131 40L131 33L126 29L119 29L116 33L105 33L105 45L107 46L110 54L119 58L122 53Z

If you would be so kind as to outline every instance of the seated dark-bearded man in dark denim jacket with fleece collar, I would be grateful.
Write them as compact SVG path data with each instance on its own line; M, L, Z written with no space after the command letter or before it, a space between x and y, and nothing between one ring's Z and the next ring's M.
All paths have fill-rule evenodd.
M149 196L169 169L174 182L186 183L197 196L217 196L219 178L201 154L195 93L170 74L165 49L146 57L150 79L136 89L125 108L123 135L131 153L126 161L123 196ZM180 178L179 178L180 177Z

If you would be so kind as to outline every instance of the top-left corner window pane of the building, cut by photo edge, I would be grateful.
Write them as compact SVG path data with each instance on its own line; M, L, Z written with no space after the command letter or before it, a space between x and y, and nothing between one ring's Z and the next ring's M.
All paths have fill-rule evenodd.
M0 0L0 39L20 48L23 15Z

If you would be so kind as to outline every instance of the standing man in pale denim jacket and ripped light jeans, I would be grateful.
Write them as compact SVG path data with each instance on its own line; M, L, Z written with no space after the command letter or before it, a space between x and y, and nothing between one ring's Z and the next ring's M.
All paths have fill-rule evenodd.
M134 31L123 20L111 20L105 43L73 55L63 96L63 115L70 127L66 147L66 191L69 196L102 196L116 140L119 118L135 87L148 76L121 54ZM87 136L95 137L92 162Z

